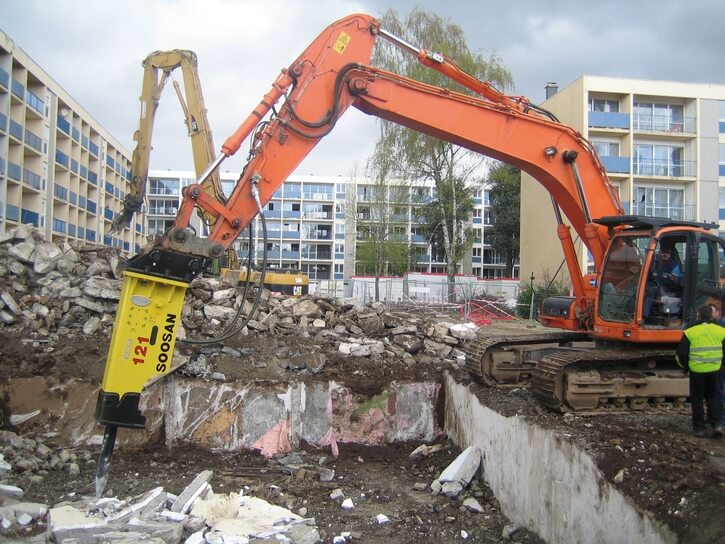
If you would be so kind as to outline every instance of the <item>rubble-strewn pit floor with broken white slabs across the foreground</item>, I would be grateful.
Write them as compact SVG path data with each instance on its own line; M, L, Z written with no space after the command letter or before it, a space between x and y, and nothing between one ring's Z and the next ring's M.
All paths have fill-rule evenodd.
M408 455L405 484L401 482L413 502L401 508L390 503L382 489L369 487L367 477L351 470L365 468L370 464L367 459L357 457L341 463L307 451L266 460L258 472L268 475L266 481L238 476L230 479L228 475L239 468L225 467L222 462L179 475L183 484L178 495L136 473L135 484L128 486L132 493L123 498L97 499L83 492L92 487L94 460L88 453L56 448L46 440L52 438L36 435L31 439L0 432L4 456L0 457L0 481L6 482L0 484L0 540L342 543L359 541L363 533L381 531L377 534L382 538L396 526L422 526L422 518L433 515L451 536L460 533L463 539L471 527L480 528L481 524L490 525L491 531L502 531L505 540L510 539L507 533L520 529L507 524L490 489L476 477L482 457L475 447L464 450L452 462L450 443L415 448ZM44 459L55 456L77 459L85 466L84 473L75 474L68 464L48 469ZM25 460L37 466L31 476L23 468ZM65 472L69 489L78 491L62 497L48 495L39 502L33 490L44 487L43 478L52 477L49 470Z

